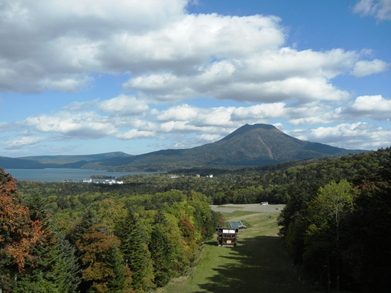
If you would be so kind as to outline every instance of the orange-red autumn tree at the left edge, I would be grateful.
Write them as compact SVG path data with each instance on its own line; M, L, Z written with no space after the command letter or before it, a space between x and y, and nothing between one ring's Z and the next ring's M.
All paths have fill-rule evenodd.
M10 273L24 273L27 262L34 264L33 248L44 235L40 221L31 220L22 204L15 179L0 168L0 287L8 283Z

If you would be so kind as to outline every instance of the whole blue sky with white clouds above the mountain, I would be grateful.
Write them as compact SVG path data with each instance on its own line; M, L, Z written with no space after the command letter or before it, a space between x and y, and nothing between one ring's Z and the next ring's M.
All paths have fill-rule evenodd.
M0 0L0 156L132 155L246 123L391 146L391 0Z

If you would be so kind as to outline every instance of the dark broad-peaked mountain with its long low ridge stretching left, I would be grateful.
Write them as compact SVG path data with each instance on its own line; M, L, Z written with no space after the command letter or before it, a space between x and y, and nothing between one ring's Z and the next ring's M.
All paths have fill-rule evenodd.
M364 151L298 140L268 124L246 124L218 142L192 149L165 149L138 156L113 152L86 156L0 157L0 167L8 169L62 167L117 172L168 171L192 167L237 169L287 160L362 152Z

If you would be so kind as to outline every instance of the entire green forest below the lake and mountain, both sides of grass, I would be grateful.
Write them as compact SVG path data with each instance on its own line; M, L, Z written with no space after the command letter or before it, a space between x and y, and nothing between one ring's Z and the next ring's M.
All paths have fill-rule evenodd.
M191 269L223 225L210 204L265 201L286 204L279 234L304 278L325 291L386 292L390 149L117 180L17 181L0 169L2 292L151 292Z

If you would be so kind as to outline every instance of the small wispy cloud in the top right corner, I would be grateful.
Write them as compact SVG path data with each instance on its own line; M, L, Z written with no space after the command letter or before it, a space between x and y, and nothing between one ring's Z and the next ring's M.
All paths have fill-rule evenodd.
M376 20L391 20L391 0L361 0L353 7L353 13L371 15Z

